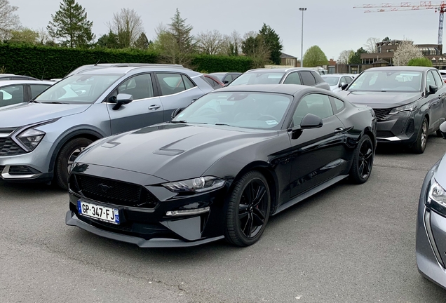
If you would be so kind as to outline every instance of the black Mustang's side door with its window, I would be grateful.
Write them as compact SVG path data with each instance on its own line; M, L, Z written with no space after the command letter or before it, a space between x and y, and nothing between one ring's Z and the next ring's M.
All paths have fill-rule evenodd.
M300 129L306 114L316 114L323 121L319 128ZM290 192L302 194L339 175L344 161L344 124L334 115L330 97L320 93L305 95L292 116L289 132L292 148Z

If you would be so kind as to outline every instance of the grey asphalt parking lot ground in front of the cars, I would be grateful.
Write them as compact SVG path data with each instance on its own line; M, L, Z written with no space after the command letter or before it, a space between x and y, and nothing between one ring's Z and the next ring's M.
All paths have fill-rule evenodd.
M0 302L444 302L415 262L421 182L446 152L380 149L370 180L273 217L259 243L140 249L65 225L67 194L0 182Z

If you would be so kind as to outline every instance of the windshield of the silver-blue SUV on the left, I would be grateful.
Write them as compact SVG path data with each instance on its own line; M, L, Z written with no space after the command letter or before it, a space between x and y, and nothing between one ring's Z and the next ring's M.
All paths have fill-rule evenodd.
M35 100L40 103L93 103L121 76L76 74L55 83Z

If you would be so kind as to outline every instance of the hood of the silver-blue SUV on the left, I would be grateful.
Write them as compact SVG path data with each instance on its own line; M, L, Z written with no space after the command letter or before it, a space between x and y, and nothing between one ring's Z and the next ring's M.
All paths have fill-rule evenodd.
M79 114L90 105L58 105L43 103L20 103L0 107L0 128L27 126L41 121Z

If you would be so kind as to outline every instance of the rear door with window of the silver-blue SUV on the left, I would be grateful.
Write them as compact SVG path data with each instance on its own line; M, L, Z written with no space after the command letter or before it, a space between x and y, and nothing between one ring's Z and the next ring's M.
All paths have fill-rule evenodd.
M157 72L156 83L164 108L164 121L170 121L172 112L184 108L203 95L198 86L186 74Z

